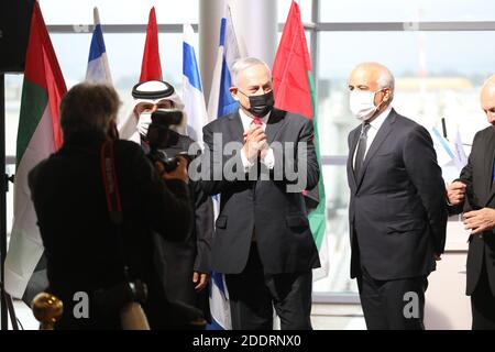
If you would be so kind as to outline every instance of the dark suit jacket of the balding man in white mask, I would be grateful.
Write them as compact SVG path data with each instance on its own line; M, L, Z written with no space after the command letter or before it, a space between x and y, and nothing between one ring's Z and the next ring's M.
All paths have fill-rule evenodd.
M355 178L360 132L358 127L349 134L351 277L361 265L375 279L428 275L433 253L443 253L447 226L446 187L430 134L392 110Z

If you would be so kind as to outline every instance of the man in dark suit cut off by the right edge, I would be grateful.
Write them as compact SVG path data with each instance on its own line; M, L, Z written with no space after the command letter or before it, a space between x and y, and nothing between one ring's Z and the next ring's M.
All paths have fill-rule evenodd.
M486 129L474 136L468 165L459 180L448 187L453 213L464 210L464 226L471 230L468 252L466 295L471 296L473 330L495 329L495 76L481 91Z

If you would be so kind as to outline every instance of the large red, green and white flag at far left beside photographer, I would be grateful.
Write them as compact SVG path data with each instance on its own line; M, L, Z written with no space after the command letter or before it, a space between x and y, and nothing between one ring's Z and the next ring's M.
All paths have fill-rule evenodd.
M67 91L37 1L25 57L14 183L14 220L6 258L6 290L21 298L43 243L28 186L30 170L62 145L61 99Z

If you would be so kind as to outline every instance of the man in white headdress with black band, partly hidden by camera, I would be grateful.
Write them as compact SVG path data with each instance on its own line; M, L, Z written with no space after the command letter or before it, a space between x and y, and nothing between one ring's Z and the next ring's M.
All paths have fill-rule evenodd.
M167 156L189 151L195 141L184 135L187 125L184 103L172 85L161 80L140 82L132 89L132 96L135 107L131 118L121 127L122 138L140 143L143 151L148 153L146 134L153 112L180 110L183 121L179 125L170 125L163 150ZM195 219L186 241L173 243L155 235L154 260L168 299L199 308L209 320L208 277L215 220L213 204L195 180L189 182L189 194Z

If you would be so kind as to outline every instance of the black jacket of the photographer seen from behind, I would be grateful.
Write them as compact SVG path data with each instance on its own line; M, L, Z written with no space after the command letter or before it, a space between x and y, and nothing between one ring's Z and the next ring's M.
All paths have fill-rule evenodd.
M141 147L116 141L116 169L123 224L110 221L100 168L105 136L78 133L29 175L45 255L50 290L64 301L59 329L119 329L119 311L96 308L94 294L124 278L148 288L143 308L152 328L173 322L163 284L153 263L152 231L168 240L184 240L193 221L188 189L180 180L165 185ZM89 296L89 318L75 319L74 294Z

